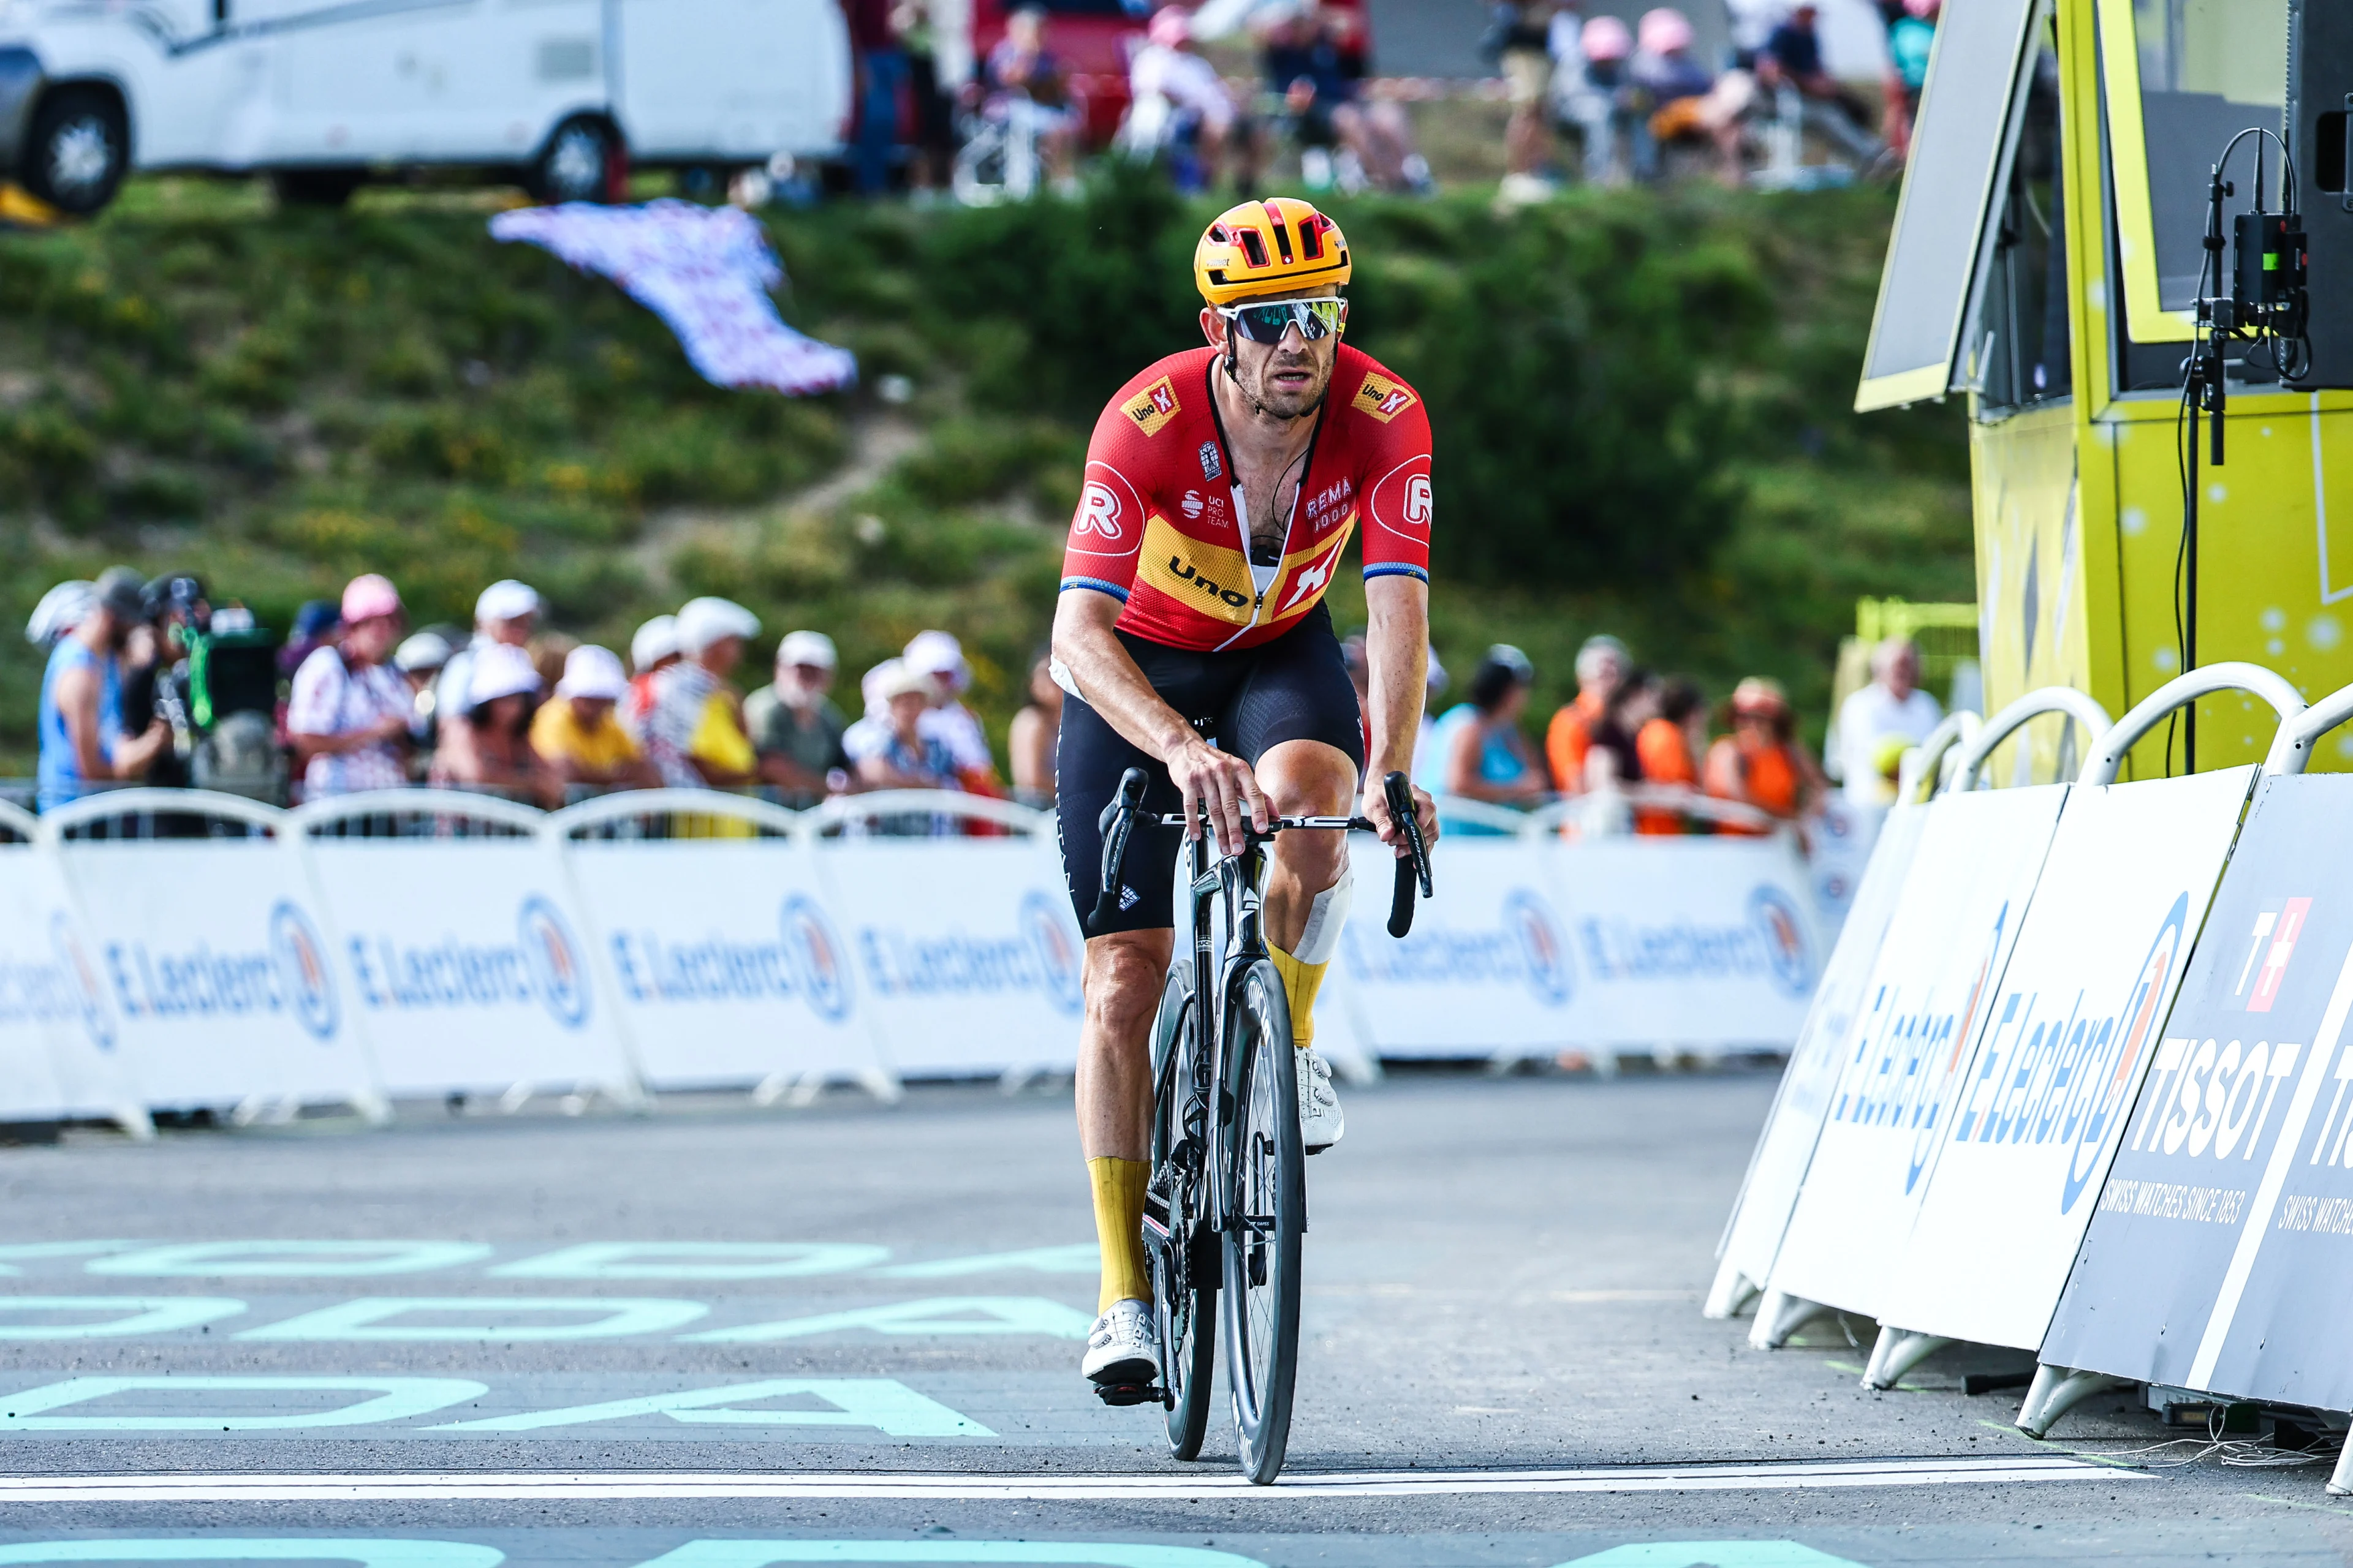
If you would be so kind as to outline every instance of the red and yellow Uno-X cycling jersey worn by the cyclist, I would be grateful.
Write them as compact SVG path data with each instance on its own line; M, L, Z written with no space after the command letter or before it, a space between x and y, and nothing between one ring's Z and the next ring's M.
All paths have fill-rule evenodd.
M1362 524L1365 576L1431 578L1431 418L1414 388L1341 346L1282 559L1249 520L1209 402L1217 353L1169 355L1094 421L1061 585L1125 602L1118 630L1172 649L1247 649L1315 609Z

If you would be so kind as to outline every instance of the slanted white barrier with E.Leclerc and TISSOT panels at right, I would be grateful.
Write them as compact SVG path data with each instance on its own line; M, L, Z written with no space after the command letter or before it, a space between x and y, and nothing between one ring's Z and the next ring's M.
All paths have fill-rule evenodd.
M2137 741L2219 693L2278 712L2261 769L2118 783ZM1977 792L2024 710L2089 731L2082 773ZM1871 1387L1953 1340L2033 1349L2033 1434L2125 1382L2353 1410L2353 778L2304 776L2346 717L2353 689L2306 710L2257 665L2167 682L2113 729L2035 693L1897 809L1708 1309L1755 1298L1758 1345L1821 1309L1878 1319ZM1809 1046L1857 966L1821 1093Z

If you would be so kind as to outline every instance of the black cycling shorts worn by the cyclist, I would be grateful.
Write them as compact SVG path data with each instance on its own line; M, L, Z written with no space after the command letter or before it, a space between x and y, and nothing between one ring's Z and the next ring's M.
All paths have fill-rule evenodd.
M1355 684L1332 635L1332 611L1318 604L1299 625L1273 642L1228 654L1169 649L1127 632L1113 632L1144 679L1169 708L1217 741L1219 750L1257 766L1285 741L1337 745L1365 776L1365 731ZM1104 806L1120 792L1120 776L1144 769L1146 813L1184 811L1184 797L1158 757L1148 757L1104 715L1075 696L1064 696L1061 736L1054 743L1054 830L1061 839L1061 875L1071 884L1071 907L1080 931L1094 914L1104 886ZM1120 879L1120 912L1096 931L1165 931L1174 922L1176 851L1184 832L1139 820L1127 839Z

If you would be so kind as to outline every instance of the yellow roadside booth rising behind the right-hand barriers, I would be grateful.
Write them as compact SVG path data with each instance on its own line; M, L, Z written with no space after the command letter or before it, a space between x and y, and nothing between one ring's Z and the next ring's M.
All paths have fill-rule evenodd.
M1953 7L1946 16L1951 26ZM2177 99L2205 94L2212 113L2245 103L2245 122L2278 129L2287 0L2040 0L2028 26L2019 71L2035 68L2035 49L2045 52L2045 71L2049 56L2057 63L2066 202L2054 181L2047 209L2064 259L2052 259L2049 277L2064 277L2071 381L2066 395L1995 407L1984 393L1986 367L1969 348L1977 324L1962 324L1953 383L1969 388L1986 705L2068 684L2120 715L2181 665L2181 397L2179 378L2165 388L2158 374L2188 353L2191 320L2167 308L2165 289L2179 296L2181 282L2160 277L2158 223L2172 219L2179 228L2184 160L2195 160L2202 183L2221 153L2221 139L2151 146L2144 59L2165 61ZM2162 40L2151 35L2160 26ZM1937 66L1944 49L1939 40ZM1939 89L1937 66L1929 94ZM2014 87L2012 103L2024 101L2024 87ZM1932 129L1925 113L1922 139ZM2169 212L2153 200L2151 150L2165 165ZM1920 169L1915 155L1915 179ZM1906 207L1918 200L1906 188ZM2233 209L2242 205L2245 195ZM1988 209L1984 223L1998 221ZM1984 226L1979 242L1991 256ZM1882 287L1875 331L1887 329L1894 299ZM2353 299L2315 280L2315 313L2348 308ZM1875 383L1866 371L1857 407L1941 390L1929 378L1908 367ZM2224 468L2207 468L2205 454L2198 468L2198 663L2242 658L2278 670L2306 698L2334 691L2353 682L2353 393L2233 386L2226 442ZM2271 731L2268 710L2254 701L2202 701L2195 766L2261 762ZM2057 776L2073 762L2075 738L2045 722L2021 745L2024 759L2014 748L1995 757L1998 778ZM2313 766L2353 769L2353 733L2332 736ZM2132 752L2127 776L2167 771L2184 771L2181 738L2158 731Z

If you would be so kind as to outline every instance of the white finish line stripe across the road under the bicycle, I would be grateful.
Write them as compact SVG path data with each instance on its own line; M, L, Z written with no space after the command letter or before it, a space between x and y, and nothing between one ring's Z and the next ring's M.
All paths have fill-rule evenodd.
M1687 1493L1828 1486L1988 1486L2002 1481L2146 1481L2144 1472L2057 1455L2002 1460L1854 1460L1767 1465L1612 1465L1598 1469L1454 1469L1292 1474L1249 1486L1235 1474L341 1474L341 1476L0 1476L7 1502L529 1502L729 1497L934 1497L944 1502L1094 1502L1179 1497L1428 1497L1468 1493Z

